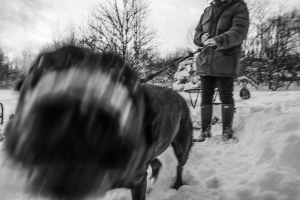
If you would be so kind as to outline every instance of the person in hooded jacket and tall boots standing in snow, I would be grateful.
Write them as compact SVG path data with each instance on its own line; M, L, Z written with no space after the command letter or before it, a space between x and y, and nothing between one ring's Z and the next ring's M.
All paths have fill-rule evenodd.
M194 36L194 43L203 47L196 63L202 87L202 132L196 141L211 136L214 87L218 87L222 102L222 139L232 138L234 77L241 43L249 26L248 10L243 0L213 0L210 4L201 15Z

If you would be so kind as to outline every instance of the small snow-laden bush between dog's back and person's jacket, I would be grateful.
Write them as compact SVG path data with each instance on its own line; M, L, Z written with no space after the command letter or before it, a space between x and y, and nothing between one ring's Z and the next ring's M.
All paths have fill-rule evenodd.
M173 89L180 91L199 86L200 76L197 74L196 56L180 62L178 64L178 70L174 75Z

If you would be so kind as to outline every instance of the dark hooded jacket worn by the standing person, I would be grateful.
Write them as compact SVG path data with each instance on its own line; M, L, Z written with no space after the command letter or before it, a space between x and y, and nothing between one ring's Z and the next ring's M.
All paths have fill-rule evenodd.
M194 43L202 47L196 62L200 75L234 77L248 27L248 10L243 0L227 0L207 7L194 36ZM216 46L203 46L201 36L206 32Z

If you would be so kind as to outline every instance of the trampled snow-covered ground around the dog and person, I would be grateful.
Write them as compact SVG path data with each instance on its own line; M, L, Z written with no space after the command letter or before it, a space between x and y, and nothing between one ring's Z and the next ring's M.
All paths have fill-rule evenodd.
M213 125L213 137L193 145L183 172L186 185L178 191L170 189L176 159L169 147L160 156L163 167L157 181L148 185L148 200L300 199L300 91L250 87L251 98L241 100L239 88L235 87L237 111L233 123L238 142L220 141L221 124ZM189 101L187 93L180 94ZM12 91L0 90L4 122L13 113L16 97ZM199 101L196 108L188 102L194 120L200 120ZM214 108L214 115L219 116L220 107ZM24 192L25 177L6 160L3 150L0 163L0 199L35 199ZM98 199L131 197L129 190L115 189Z

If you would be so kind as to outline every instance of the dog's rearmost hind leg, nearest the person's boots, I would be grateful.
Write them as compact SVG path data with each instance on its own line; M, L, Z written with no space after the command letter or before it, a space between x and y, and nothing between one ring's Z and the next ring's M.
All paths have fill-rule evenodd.
M172 142L172 147L174 149L175 156L178 160L177 165L177 177L175 184L172 188L178 189L182 183L182 167L186 163L188 158L188 153L192 145L192 124L188 117L185 123L181 123L179 132L176 135L175 139Z

